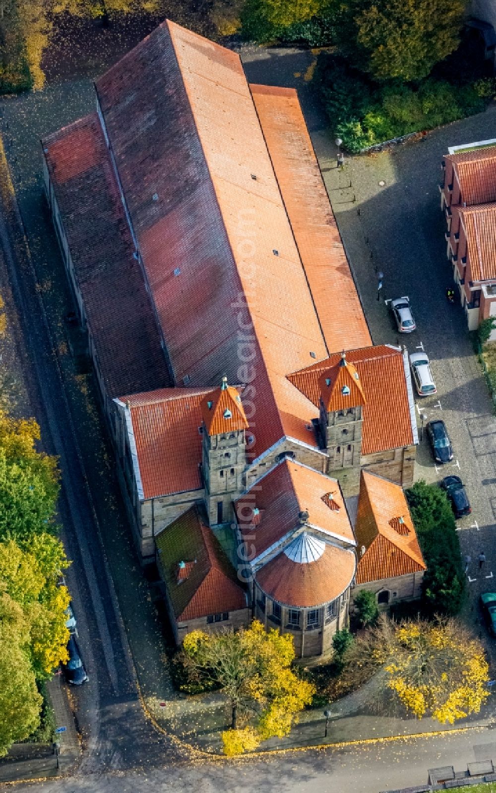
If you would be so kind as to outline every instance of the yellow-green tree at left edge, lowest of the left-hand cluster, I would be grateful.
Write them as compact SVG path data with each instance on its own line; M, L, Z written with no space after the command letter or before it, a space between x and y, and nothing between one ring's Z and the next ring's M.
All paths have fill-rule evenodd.
M29 627L18 603L0 594L0 756L40 723L42 699L29 657Z

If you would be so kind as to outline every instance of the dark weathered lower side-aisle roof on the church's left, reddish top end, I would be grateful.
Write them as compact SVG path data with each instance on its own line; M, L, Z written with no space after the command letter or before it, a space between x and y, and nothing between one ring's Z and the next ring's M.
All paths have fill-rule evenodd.
M48 136L43 147L109 397L170 385L97 114Z

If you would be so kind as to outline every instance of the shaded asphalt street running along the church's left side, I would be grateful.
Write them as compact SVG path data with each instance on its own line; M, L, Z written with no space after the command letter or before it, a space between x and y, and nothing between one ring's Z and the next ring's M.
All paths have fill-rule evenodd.
M44 450L56 454L62 472L59 517L74 564L67 572L90 684L73 691L85 748L80 772L162 764L165 753L184 756L147 721L139 703L128 642L105 562L86 475L59 363L40 300L27 240L12 202L8 176L0 173L0 266L10 279L22 329L17 339L22 370Z

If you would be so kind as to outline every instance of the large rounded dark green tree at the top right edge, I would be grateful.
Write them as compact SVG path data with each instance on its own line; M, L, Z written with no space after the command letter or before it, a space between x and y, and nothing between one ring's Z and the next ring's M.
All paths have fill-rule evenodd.
M460 44L466 0L345 0L341 48L376 79L418 81Z

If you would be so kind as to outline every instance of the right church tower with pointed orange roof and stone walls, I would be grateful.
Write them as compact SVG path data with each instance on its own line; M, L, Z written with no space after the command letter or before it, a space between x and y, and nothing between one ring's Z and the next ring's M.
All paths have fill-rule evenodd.
M320 432L329 455L327 473L338 479L345 496L357 495L365 398L360 376L344 352L320 377L319 390Z

